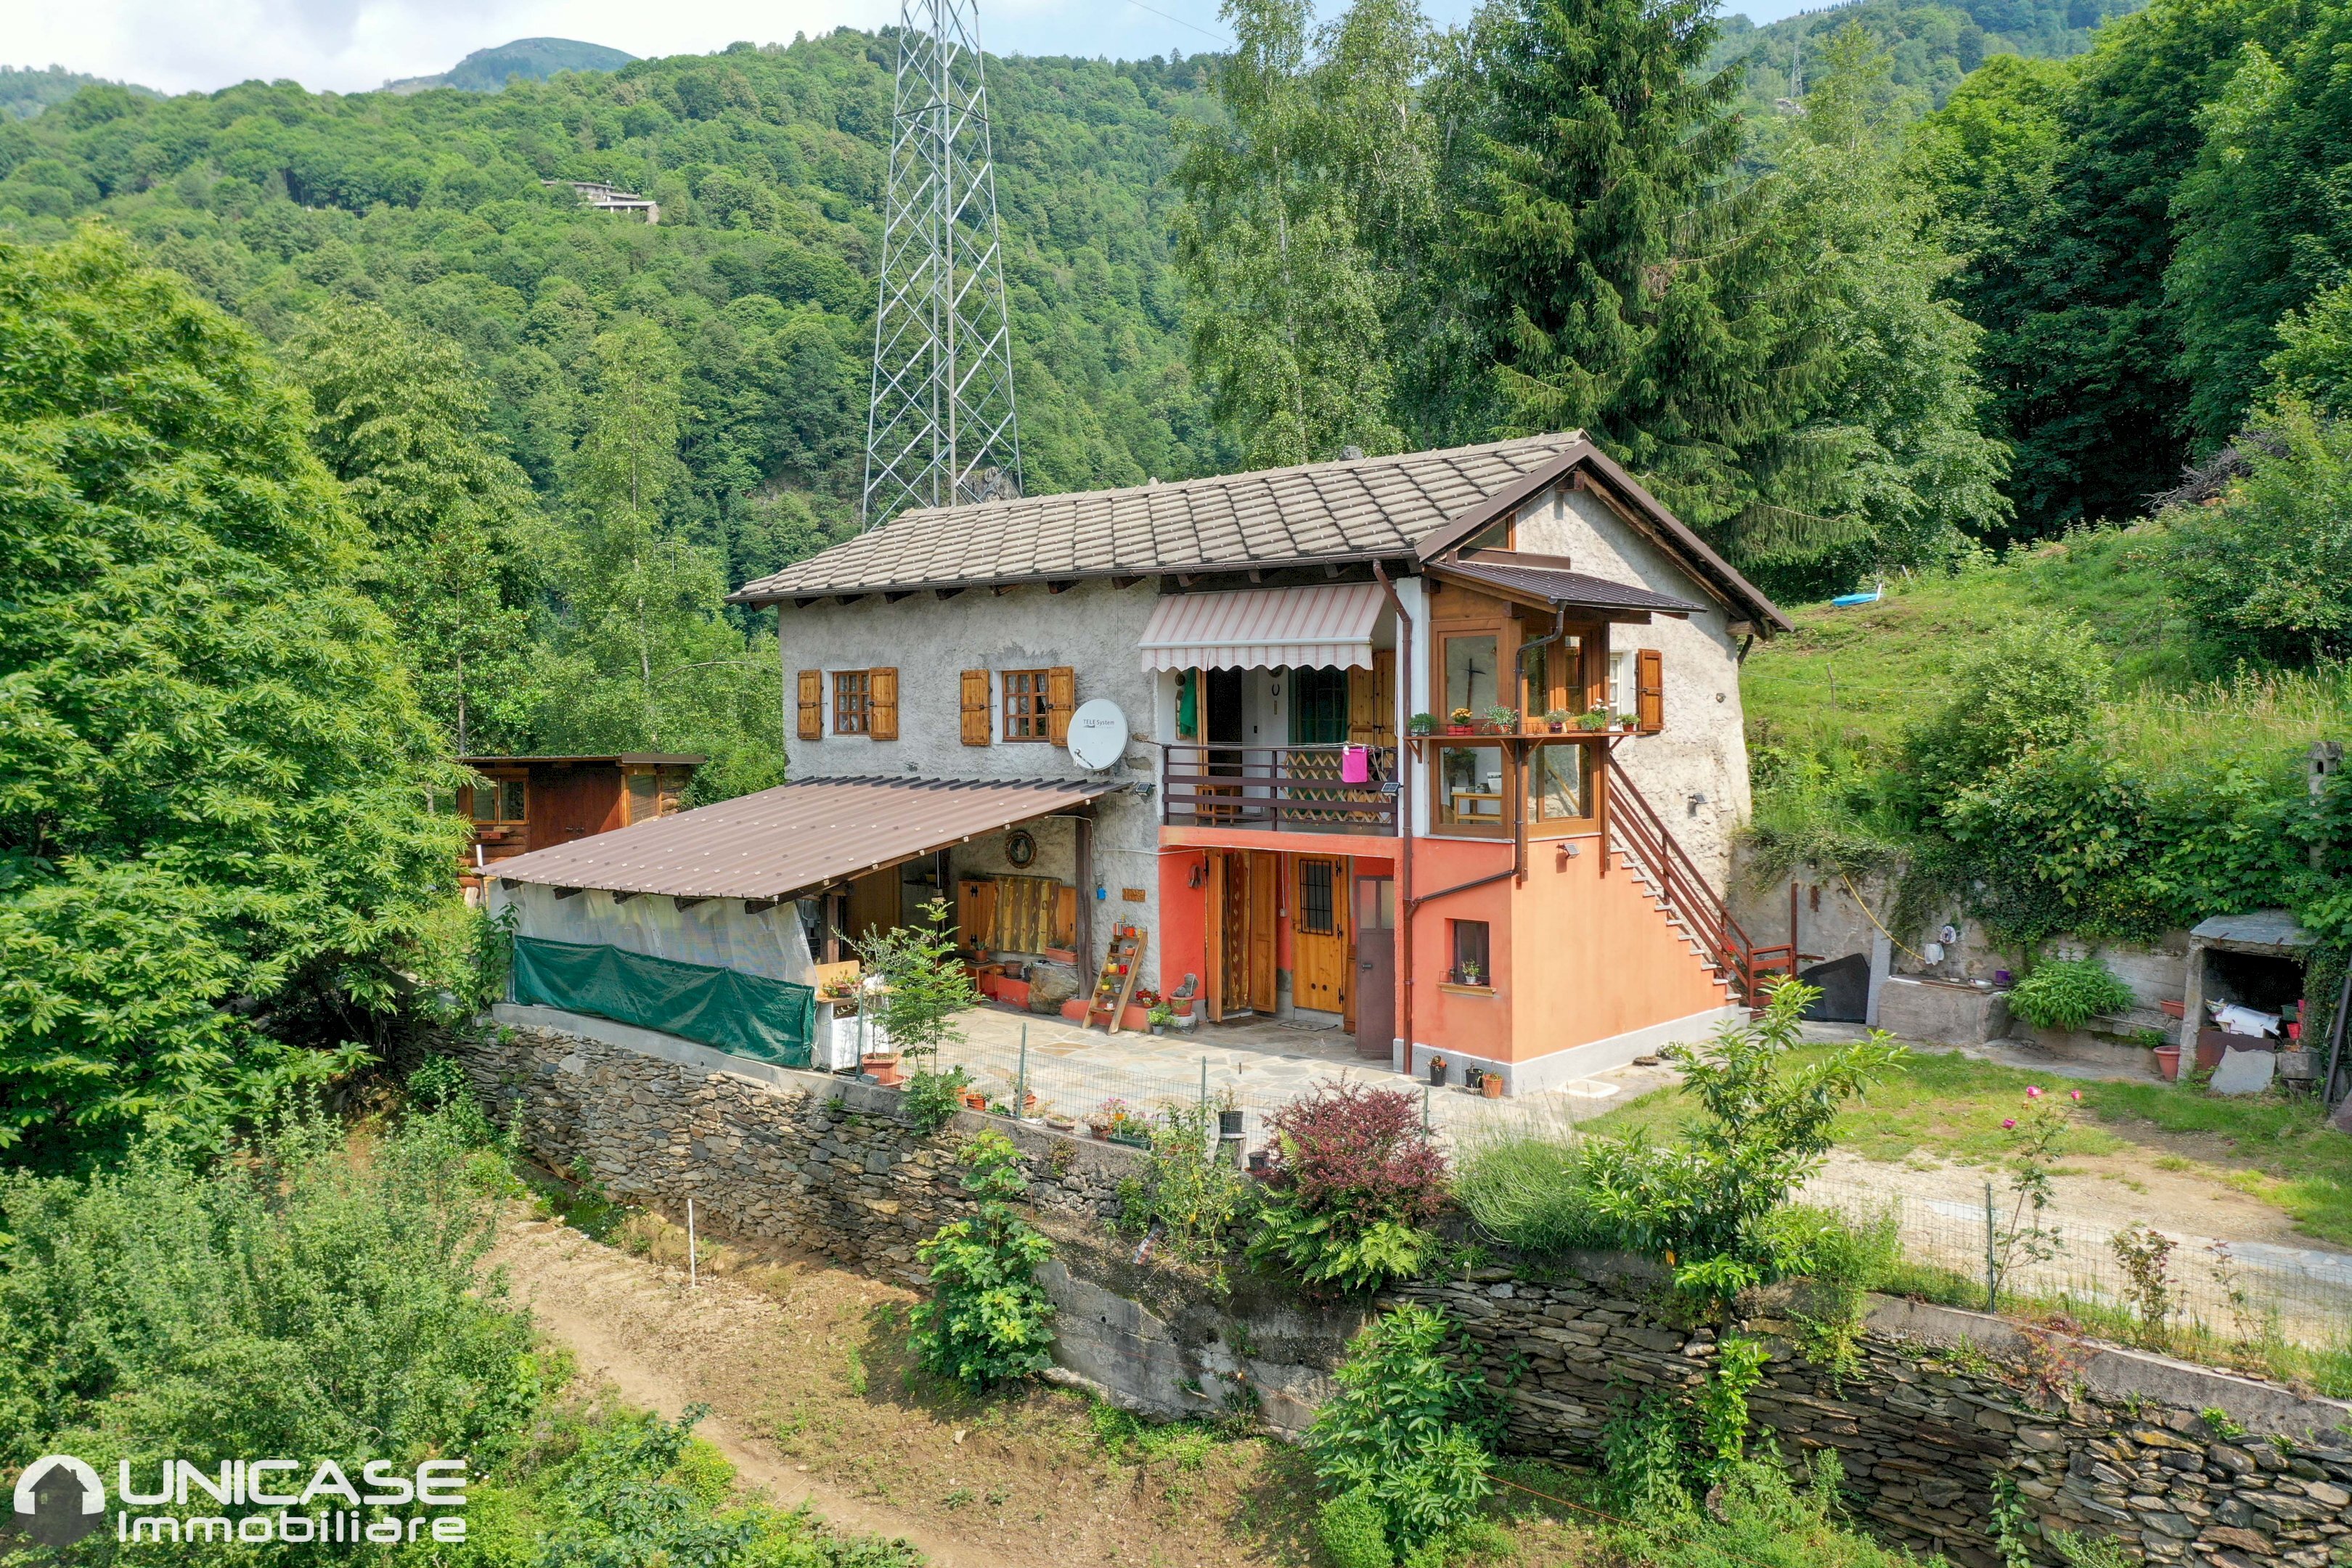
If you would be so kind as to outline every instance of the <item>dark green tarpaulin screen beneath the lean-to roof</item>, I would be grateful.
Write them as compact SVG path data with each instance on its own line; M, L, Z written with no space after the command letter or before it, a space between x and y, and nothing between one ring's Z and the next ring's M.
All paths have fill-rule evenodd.
M515 938L515 1001L661 1030L731 1056L807 1067L816 990L602 943Z

